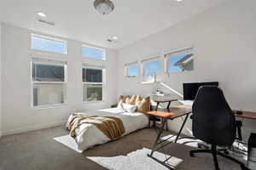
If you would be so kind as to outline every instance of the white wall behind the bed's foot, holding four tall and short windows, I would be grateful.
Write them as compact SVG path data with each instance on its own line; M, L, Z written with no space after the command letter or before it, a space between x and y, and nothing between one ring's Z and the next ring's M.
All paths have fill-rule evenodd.
M95 61L81 57L81 42L67 41L67 55L49 54L30 49L31 32L8 24L3 24L3 134L19 133L41 127L51 127L67 121L73 111L108 108L116 102L116 55L107 49L106 61ZM37 33L37 32L36 32ZM90 44L89 44L90 45ZM31 107L32 56L54 57L67 60L67 105L49 109ZM107 84L103 94L105 102L82 103L82 62L105 65Z

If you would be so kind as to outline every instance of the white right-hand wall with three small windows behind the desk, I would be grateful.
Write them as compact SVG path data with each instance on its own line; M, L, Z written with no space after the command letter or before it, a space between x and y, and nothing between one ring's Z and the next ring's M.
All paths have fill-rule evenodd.
M166 50L194 46L195 71L160 75L157 79L179 93L183 92L183 82L218 81L232 109L256 111L255 16L256 1L227 1L204 14L122 48L118 54L118 94L148 95L154 88L154 85L140 84L139 78L126 80L125 63L152 54L161 54L163 58ZM177 122L180 121L169 122L169 127L177 131L180 126ZM256 132L256 125L248 120L243 122L243 133L247 139L249 132ZM190 124L191 121L187 125L189 129Z

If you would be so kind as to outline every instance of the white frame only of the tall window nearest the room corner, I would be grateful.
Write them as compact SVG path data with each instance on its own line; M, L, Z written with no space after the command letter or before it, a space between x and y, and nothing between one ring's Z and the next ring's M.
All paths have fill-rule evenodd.
M98 59L96 59L98 60ZM83 82L83 69L94 69L94 70L101 70L102 71L102 82ZM101 65L90 65L90 64L83 64L82 65L82 102L84 104L88 103L102 103L105 102L105 89L106 89L106 68ZM102 85L102 100L97 100L97 101L86 101L84 100L84 84L96 84L96 85Z

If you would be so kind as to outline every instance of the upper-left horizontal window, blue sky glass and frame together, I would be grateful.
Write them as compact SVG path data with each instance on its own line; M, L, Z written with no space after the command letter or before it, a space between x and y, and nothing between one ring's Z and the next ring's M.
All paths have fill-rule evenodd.
M31 48L57 54L67 54L67 42L32 34Z

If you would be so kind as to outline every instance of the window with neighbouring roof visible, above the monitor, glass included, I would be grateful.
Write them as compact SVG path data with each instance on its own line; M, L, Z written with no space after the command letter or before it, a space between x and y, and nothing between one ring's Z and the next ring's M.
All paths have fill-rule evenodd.
M166 70L169 73L193 71L194 58L192 48L179 50L171 54L166 54Z

